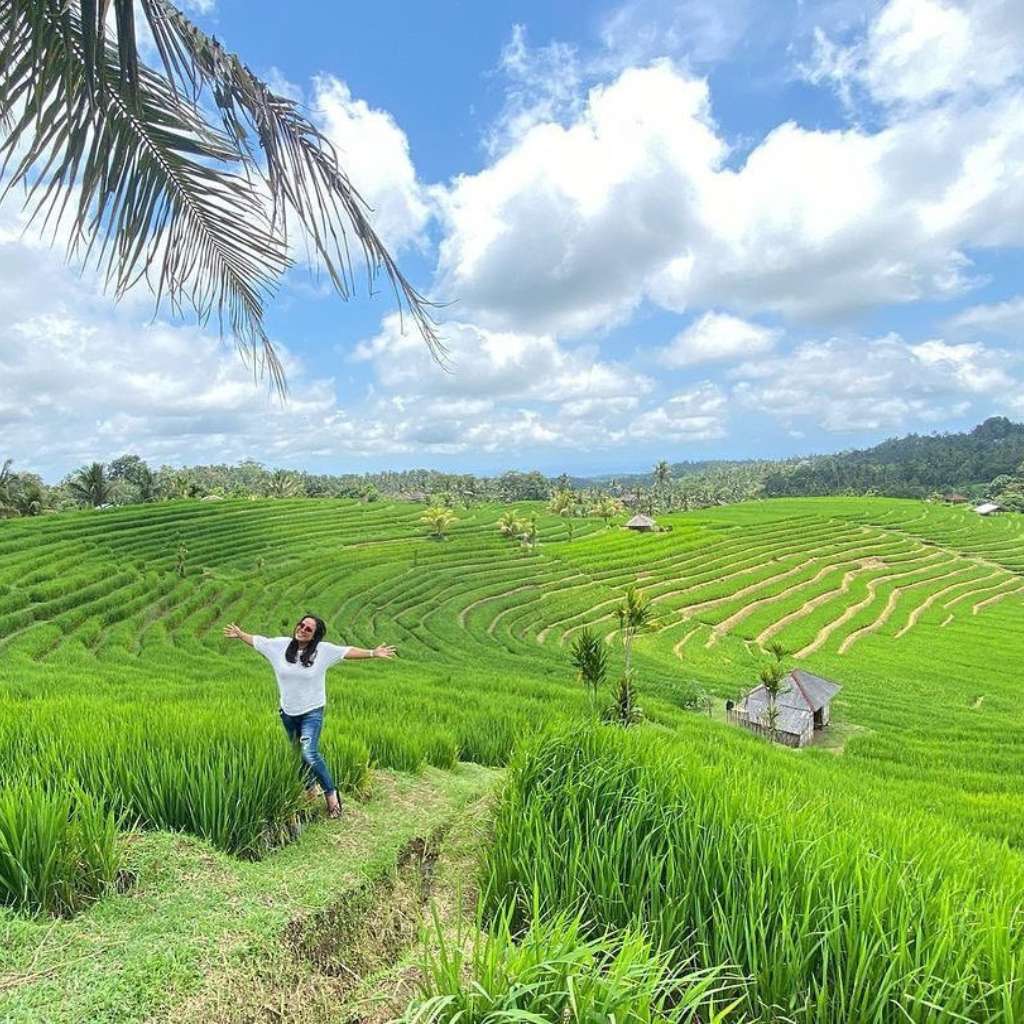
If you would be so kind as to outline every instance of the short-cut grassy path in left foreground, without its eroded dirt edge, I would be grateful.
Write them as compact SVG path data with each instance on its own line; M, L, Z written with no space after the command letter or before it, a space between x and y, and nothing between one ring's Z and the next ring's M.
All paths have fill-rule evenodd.
M0 1021L185 1019L208 988L230 987L237 968L280 964L307 923L393 873L403 848L445 827L494 778L477 766L379 772L369 801L349 804L341 822L313 824L257 863L188 836L128 836L137 879L128 892L72 921L0 911Z

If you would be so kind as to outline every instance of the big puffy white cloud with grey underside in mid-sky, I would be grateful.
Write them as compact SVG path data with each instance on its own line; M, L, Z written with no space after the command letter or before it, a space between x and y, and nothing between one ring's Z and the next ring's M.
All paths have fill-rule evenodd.
M568 127L535 125L442 200L443 290L492 326L582 332L622 322L652 262L699 224L693 194L725 155L707 84L668 63L591 90Z

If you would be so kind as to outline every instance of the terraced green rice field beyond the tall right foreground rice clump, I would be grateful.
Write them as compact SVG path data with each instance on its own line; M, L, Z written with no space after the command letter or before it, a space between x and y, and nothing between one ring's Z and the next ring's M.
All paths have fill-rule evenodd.
M1024 896L1022 517L784 500L667 517L672 530L656 535L581 521L569 542L564 520L524 507L540 527L524 550L500 535L504 511L460 512L444 541L426 536L419 506L344 501L0 523L0 831L4 794L24 803L56 780L122 827L184 830L243 857L287 842L301 790L271 675L221 637L232 621L272 635L313 612L329 639L397 645L395 663L349 663L329 679L325 753L348 791L365 790L375 767L502 765L522 737L586 718L568 645L591 627L620 666L615 609L637 586L657 615L636 663L658 742L681 744L691 768L702 759L734 793L768 773L773 800L805 809L809 836L839 829L900 850L927 837L953 874L974 865L1007 887L1000 899ZM721 721L770 642L843 686L816 748L776 751ZM716 698L710 718L686 710L698 693ZM1021 925L999 928L999 955L976 974L1001 986L1012 1013L999 1019L1020 1019ZM996 1019L985 1016L989 989L971 991L963 1019ZM844 1019L823 1005L787 1012ZM947 1019L900 1006L901 1017L864 1019Z

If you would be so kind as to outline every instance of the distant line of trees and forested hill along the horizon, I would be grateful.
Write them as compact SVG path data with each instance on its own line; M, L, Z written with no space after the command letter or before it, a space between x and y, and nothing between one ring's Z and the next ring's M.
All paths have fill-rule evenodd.
M154 469L128 454L83 466L50 485L35 473L15 471L10 459L0 467L0 517L183 498L305 497L386 498L447 509L547 501L552 511L571 519L594 514L605 499L621 511L658 515L757 498L834 495L987 499L1024 511L1024 424L993 417L965 433L909 434L871 449L798 459L660 460L648 473L621 477L550 477L538 470L497 476L434 469L323 474L271 469L251 460Z

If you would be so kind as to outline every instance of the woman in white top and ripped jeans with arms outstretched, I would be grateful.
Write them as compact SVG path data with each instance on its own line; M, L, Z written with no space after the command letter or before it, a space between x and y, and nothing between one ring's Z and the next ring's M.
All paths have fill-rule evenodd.
M302 754L302 780L310 794L319 782L327 800L327 812L332 818L341 816L341 801L331 771L319 752L319 734L324 728L324 706L327 703L327 670L342 658L394 657L394 647L381 644L372 650L324 643L327 626L323 618L304 615L288 637L261 637L246 633L231 623L224 627L224 636L244 640L258 650L273 667L281 692L281 721L293 743Z

